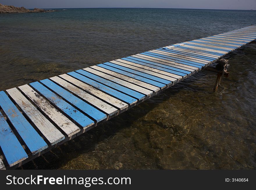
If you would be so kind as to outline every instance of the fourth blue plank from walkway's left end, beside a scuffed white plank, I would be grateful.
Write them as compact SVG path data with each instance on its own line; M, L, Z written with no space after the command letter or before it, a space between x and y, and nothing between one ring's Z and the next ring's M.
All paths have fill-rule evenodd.
M64 98L67 102L76 106L81 111L83 111L84 113L86 113L87 115L89 115L90 117L95 119L97 122L100 122L100 121L107 118L106 114L99 111L98 109L91 106L90 104L84 102L80 98L74 96L72 93L66 91L64 88L58 86L57 84L55 84L51 80L44 79L44 80L41 80L40 82L42 82L45 86L47 86L52 91L54 91L56 94L58 94L59 96Z

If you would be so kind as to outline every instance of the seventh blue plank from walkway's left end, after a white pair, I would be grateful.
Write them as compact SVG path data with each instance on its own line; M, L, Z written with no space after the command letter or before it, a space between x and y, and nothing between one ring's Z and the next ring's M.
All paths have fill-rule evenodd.
M162 84L160 82L156 82L156 81L153 81L151 79L147 79L145 77L141 77L139 75L134 75L132 73L128 73L126 71L123 71L123 70L120 70L120 69L117 69L117 68L114 68L114 67L111 67L111 66L108 66L108 65L98 64L97 66L105 68L105 69L108 69L108 70L111 70L111 71L114 71L114 72L122 74L122 75L125 75L127 77L131 77L131 78L137 79L139 81L142 81L142 82L145 82L145 83L157 86L159 88L164 88L166 86L165 84Z

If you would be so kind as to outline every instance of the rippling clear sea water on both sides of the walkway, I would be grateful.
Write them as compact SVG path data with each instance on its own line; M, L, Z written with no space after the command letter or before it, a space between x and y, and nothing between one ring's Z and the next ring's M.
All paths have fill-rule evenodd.
M256 11L67 9L0 15L0 90L255 24ZM256 169L256 43L24 169Z

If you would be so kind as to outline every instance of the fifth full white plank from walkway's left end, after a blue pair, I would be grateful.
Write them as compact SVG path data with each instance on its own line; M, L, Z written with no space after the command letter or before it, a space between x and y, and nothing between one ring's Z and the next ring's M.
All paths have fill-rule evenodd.
M113 76L111 76L111 75L107 75L107 74L105 74L105 73L102 73L102 72L100 72L100 71L98 71L98 70L95 70L95 69L93 69L93 68L90 68L90 67L84 68L83 70L86 70L86 71L88 71L88 72L90 72L90 73L93 73L93 74L95 74L95 75L98 75L98 76L100 76L100 77L102 77L102 78L104 78L104 79L108 79L108 80L113 81L113 82L115 82L115 83L117 83L117 84L120 84L120 85L122 85L122 86L125 86L125 87L127 87L127 88L130 88L130 89L132 89L132 90L134 90L134 91L137 91L137 92L139 92L139 93L142 93L142 94L144 94L144 95L146 95L146 96L150 96L150 95L154 92L154 91L148 90L148 89L146 89L146 88L143 88L143 87L141 87L141 86L138 86L138 85L136 85L136 84L133 84L133 83L124 81L124 80L122 80L122 79L113 77Z

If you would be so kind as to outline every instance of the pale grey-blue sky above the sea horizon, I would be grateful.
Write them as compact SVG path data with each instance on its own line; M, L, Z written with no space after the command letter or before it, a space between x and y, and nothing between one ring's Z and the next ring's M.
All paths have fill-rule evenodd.
M256 10L256 0L0 0L25 8L191 8Z

